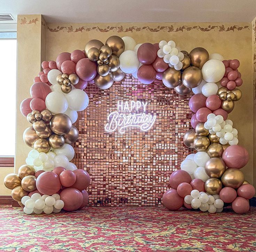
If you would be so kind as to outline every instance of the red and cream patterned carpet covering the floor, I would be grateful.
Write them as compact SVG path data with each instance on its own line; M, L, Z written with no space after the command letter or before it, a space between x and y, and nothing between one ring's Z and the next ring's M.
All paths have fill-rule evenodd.
M256 251L256 208L246 215L163 207L87 207L25 215L0 207L0 251Z

